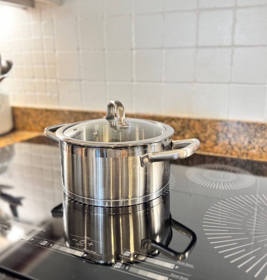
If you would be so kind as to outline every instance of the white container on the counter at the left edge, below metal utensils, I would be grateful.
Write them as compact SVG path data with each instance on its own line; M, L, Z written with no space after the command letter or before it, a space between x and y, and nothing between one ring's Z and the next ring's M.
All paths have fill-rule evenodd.
M9 105L8 95L4 94L0 85L0 135L13 129L12 109Z

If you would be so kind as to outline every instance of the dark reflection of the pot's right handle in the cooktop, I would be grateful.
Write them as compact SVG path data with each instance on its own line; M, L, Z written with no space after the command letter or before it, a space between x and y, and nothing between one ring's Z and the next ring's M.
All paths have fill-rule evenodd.
M160 253L162 253L165 256L168 256L169 258L181 261L188 257L190 252L193 250L196 242L197 242L197 236L196 234L190 230L189 228L185 227L181 223L171 219L171 227L177 230L178 232L190 237L191 241L189 245L186 247L186 249L183 252L177 252L171 248L169 248L166 245L163 245L159 242L156 242L152 239L143 239L141 243L141 248L147 248L147 249L156 249Z

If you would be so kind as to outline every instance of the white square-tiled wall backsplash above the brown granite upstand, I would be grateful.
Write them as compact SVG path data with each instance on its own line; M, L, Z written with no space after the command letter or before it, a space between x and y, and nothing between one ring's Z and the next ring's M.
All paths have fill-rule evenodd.
M11 104L267 121L267 0L0 9Z

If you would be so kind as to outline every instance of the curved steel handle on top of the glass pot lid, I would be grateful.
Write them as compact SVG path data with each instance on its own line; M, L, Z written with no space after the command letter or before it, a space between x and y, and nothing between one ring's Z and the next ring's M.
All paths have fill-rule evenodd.
M116 125L119 128L129 127L130 125L128 125L128 123L126 122L126 119L125 119L124 107L120 101L111 100L108 102L106 119L111 120L111 119L115 118L115 110L116 110L116 116L117 116Z

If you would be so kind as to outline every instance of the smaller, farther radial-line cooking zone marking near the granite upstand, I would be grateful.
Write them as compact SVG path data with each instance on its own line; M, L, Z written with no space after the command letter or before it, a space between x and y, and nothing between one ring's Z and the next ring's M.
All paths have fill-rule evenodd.
M207 163L187 168L186 177L201 186L222 190L237 190L252 186L254 176L228 164Z

